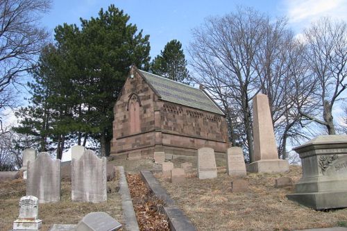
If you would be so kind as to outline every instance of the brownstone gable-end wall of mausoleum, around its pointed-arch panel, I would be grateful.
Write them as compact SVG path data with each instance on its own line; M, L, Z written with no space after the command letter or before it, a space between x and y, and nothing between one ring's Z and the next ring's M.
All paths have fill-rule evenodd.
M129 153L155 145L154 92L145 80L135 72L133 78L127 78L121 95L114 108L115 120L113 121L113 139L111 155ZM137 102L136 102L137 101ZM134 126L130 122L128 108L130 103L138 103L139 130L132 131Z

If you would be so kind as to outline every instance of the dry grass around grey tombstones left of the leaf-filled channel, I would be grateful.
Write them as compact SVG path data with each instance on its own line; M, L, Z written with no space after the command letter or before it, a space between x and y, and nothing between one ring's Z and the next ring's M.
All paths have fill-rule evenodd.
M119 176L119 174L117 174ZM90 212L107 212L124 225L121 214L121 196L118 193L118 178L107 182L108 200L103 203L71 202L71 182L61 182L59 203L39 205L39 219L42 231L49 230L55 223L77 224ZM22 179L0 182L0 230L12 229L12 223L19 214L19 199L26 195L26 182ZM124 229L123 229L124 230Z

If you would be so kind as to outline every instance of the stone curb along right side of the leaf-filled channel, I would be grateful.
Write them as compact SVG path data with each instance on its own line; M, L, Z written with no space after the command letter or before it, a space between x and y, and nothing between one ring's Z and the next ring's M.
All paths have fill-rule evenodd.
M141 171L140 176L149 191L151 191L155 196L164 201L164 212L169 218L171 230L196 231L195 226L191 221L189 221L183 211L175 205L174 200L172 200L171 197L167 194L167 191L160 186L158 180L155 179L151 171Z

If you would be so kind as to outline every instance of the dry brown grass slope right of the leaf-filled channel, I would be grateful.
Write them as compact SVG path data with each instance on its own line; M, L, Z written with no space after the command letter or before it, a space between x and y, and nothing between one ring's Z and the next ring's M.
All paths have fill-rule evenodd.
M172 184L155 174L171 198L196 225L198 230L301 230L326 228L347 221L347 209L317 212L285 197L294 188L276 189L275 179L301 178L301 166L291 166L289 173L248 174L247 193L232 194L230 182L235 177L218 167L218 178L198 180L196 169L187 174L187 182Z

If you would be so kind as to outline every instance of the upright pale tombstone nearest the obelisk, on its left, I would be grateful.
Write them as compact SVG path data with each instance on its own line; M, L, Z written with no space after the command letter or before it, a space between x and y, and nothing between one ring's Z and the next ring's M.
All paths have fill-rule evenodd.
M246 164L244 163L244 153L240 147L228 148L226 155L226 172L229 176L246 176Z

